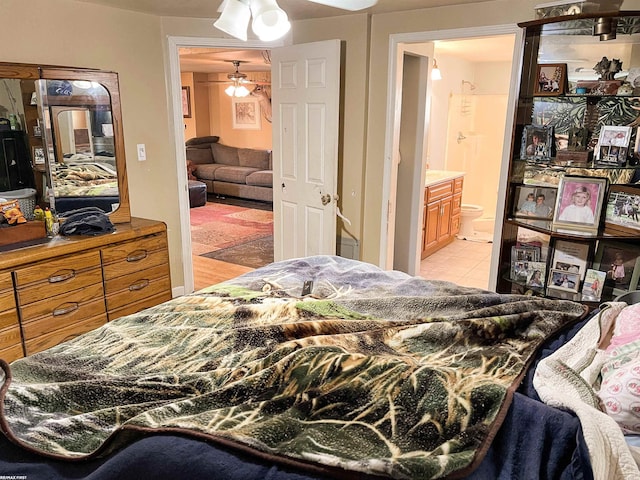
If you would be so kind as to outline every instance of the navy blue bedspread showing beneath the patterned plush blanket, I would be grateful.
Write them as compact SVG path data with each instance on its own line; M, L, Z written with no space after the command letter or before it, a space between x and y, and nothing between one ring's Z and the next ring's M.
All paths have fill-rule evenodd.
M578 419L540 403L531 384L535 363L571 338L587 319L548 341L507 412L474 480L591 480L589 454ZM81 462L45 459L0 434L0 478L26 480L312 480L302 469L251 456L230 447L179 435L149 435L106 458ZM350 478L345 476L344 478ZM354 474L351 478L362 478Z

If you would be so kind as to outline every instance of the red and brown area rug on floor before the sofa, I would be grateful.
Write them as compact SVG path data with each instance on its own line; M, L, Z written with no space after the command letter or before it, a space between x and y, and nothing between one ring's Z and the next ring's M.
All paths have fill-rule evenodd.
M194 255L257 268L273 261L273 212L258 202L234 205L207 202L190 210L191 249ZM261 203L261 202L260 202ZM264 241L264 239L271 239ZM258 243L254 241L263 240ZM269 242L271 243L270 251ZM239 253L228 249L245 245ZM226 252L226 253L225 253Z

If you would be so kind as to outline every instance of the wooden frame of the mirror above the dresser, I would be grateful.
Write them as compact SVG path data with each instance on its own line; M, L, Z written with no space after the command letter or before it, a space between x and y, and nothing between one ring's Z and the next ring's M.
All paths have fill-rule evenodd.
M51 65L35 65L28 63L0 62L0 78L19 80L86 80L103 85L111 97L111 115L113 120L114 149L116 168L118 170L118 191L120 204L110 212L112 223L128 223L131 221L129 205L129 188L127 183L127 162L124 148L124 132L122 129L122 111L120 105L120 89L118 74L104 70L89 68L60 67ZM45 148L45 155L48 155ZM47 158L47 165L49 163ZM50 176L47 166L47 174ZM50 178L49 178L49 181Z

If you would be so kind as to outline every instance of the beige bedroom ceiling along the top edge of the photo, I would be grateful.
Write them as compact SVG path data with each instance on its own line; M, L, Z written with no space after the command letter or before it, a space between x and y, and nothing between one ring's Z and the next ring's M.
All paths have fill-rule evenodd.
M217 18L217 10L222 0L76 0L96 3L124 10L149 13L167 17ZM464 5L491 0L378 0L377 5L361 10L367 13L389 13L420 8L441 7L445 5ZM278 4L291 20L307 18L334 17L352 15L354 12L327 7L304 0L278 0ZM357 12L355 12L357 13Z

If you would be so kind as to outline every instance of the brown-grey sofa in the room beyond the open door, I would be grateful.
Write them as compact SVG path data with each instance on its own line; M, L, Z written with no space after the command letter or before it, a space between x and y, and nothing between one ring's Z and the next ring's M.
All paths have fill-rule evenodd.
M207 186L207 193L263 202L273 201L271 150L232 147L219 137L186 142L187 171Z

